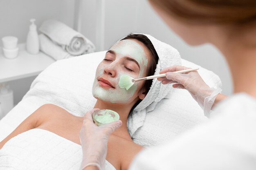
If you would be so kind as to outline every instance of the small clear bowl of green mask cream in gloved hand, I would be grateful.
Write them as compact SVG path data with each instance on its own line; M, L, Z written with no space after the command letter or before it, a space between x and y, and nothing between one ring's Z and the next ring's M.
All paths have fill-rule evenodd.
M92 114L92 119L98 126L117 121L119 118L117 112L108 109L97 110Z

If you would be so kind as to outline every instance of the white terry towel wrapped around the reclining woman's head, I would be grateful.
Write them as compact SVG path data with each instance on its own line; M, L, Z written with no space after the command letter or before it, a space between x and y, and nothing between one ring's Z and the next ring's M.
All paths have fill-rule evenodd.
M146 37L151 41L155 47L155 51L159 57L154 75L158 75L159 72L166 67L181 65L180 53L172 46L157 40L151 35ZM127 128L130 136L144 124L146 113L155 109L155 106L163 98L168 95L171 84L163 85L157 79L153 79L152 85L146 97L132 110L127 120Z

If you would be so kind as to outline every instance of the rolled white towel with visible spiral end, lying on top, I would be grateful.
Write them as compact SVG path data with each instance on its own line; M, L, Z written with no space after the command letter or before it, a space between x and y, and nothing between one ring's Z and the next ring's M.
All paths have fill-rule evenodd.
M40 26L39 31L62 46L70 55L92 53L96 49L88 38L57 20L46 20Z

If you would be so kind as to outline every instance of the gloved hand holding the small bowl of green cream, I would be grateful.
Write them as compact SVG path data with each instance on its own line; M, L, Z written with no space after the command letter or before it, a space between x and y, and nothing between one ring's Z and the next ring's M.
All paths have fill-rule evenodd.
M92 109L85 113L79 133L83 150L80 170L90 165L97 166L99 170L105 170L108 137L122 125L122 121L118 120L110 124L97 126L92 119L92 114L97 110L99 109Z

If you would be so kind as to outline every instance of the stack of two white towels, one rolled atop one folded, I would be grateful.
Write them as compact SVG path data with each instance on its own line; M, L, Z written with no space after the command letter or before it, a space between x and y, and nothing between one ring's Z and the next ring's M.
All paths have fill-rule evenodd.
M46 20L40 26L40 50L55 60L92 53L94 44L81 33L56 20Z

